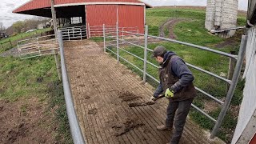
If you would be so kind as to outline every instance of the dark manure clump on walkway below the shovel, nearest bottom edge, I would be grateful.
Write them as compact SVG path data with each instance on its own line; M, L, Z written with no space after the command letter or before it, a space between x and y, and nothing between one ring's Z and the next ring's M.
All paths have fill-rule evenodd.
M114 124L112 129L115 132L114 136L118 137L144 125L144 123L138 122L137 118L126 118L125 121Z

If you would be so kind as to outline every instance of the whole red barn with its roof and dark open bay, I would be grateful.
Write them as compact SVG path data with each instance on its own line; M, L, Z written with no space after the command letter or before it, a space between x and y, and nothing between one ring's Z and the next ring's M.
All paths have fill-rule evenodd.
M31 0L13 13L51 18L50 6L50 0ZM88 30L118 22L119 27L137 27L140 34L144 32L145 9L150 7L138 0L54 0L58 26L86 26Z

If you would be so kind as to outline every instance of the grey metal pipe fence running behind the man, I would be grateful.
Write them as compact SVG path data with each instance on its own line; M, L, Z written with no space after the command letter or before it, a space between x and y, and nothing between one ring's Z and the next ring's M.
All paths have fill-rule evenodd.
M192 104L192 107L195 110L198 110L198 112L200 112L201 114L204 114L207 118L210 118L210 120L215 123L214 129L212 130L212 132L210 134L210 138L214 138L214 136L216 135L219 127L221 126L222 120L223 120L223 118L226 114L226 111L227 111L227 109L230 105L230 101L233 97L234 89L235 89L235 87L237 86L237 83L238 83L238 77L239 77L240 71L242 69L242 59L244 58L244 50L246 48L246 36L242 37L239 54L234 55L234 54L228 54L228 53L225 53L225 52L222 52L222 51L219 51L219 50L213 50L213 49L210 49L206 46L198 46L198 45L194 45L194 44L191 44L191 43L188 43L188 42L181 42L181 41L177 41L177 40L174 40L174 39L161 38L161 37L148 35L148 26L145 26L145 34L138 34L138 33L134 33L134 32L131 32L131 31L123 30L122 28L118 27L118 23L117 23L115 33L116 33L116 37L112 37L112 38L115 38L115 41L114 41L115 44L108 42L108 39L107 39L108 37L106 35L106 26L103 25L104 51L106 52L106 50L109 50L111 53L113 53L117 56L118 62L119 62L119 58L121 58L123 61L129 63L131 66L134 66L137 70L141 71L143 73L143 82L146 82L146 76L148 76L148 77L152 78L155 82L159 83L157 78L154 78L154 76L152 76L152 75L150 75L146 72L147 64L150 64L151 66L154 66L155 68L158 68L158 66L156 66L153 63L147 61L148 51L150 51L150 52L153 51L153 50L150 50L147 47L149 38L157 38L157 39L160 39L160 40L166 41L166 42L174 42L174 43L190 46L190 47L193 47L193 48L196 48L196 49L199 49L199 50L206 50L206 51L209 51L211 53L219 54L219 55L222 55L222 56L225 56L225 57L228 57L228 58L232 58L232 59L237 61L232 80L229 80L227 78L223 78L221 76L218 76L218 74L214 74L210 71L203 70L202 68L200 68L198 66L194 66L194 65L191 65L189 63L186 63L187 66L192 67L194 70L198 70L202 73L209 74L210 76L212 76L214 78L218 78L218 79L222 80L223 82L226 82L226 83L230 84L230 88L228 90L228 93L226 94L225 102L222 102L218 98L215 98L213 95L206 93L205 91L199 89L198 87L195 87L196 90L198 90L200 93L206 95L207 97L213 99L215 102L218 102L219 104L222 105L221 113L219 114L218 119L216 120L216 119L212 118L209 114L206 114L206 112L204 112L203 110L201 110L200 108L198 108L197 106L194 106L194 104ZM119 36L120 33L122 33L122 35L123 34L133 34L137 37L138 36L144 37L144 41L145 41L144 46L140 46L139 44L135 44L134 42L127 42L126 39L119 38L118 36ZM122 47L119 47L119 45L121 45L122 43L120 44L119 42L130 44L132 46L137 46L138 48L142 48L144 50L144 58L141 58L136 54L132 54L131 52L122 49ZM116 52L114 50L110 50L109 46L114 46ZM129 62L129 60L127 60L126 58L123 58L122 56L120 56L119 50L122 50L122 51L126 52L126 54L130 54L131 56L134 56L135 58L138 58L139 60L141 60L144 63L143 64L143 69L134 65L134 63Z

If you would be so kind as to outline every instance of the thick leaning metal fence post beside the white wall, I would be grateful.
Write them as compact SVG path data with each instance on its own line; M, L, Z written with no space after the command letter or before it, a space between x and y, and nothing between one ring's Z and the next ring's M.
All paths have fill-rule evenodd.
M226 100L224 102L224 105L222 106L222 111L218 115L218 120L215 123L214 129L212 130L212 132L210 134L210 138L214 138L215 135L217 134L218 128L221 126L222 121L226 115L226 111L228 110L228 108L230 106L230 102L233 97L235 87L238 84L238 78L239 78L239 75L240 75L240 72L242 69L242 62L243 62L243 58L244 58L245 52L246 52L246 43L247 43L247 36L242 35L241 45L240 45L239 54L238 54L238 61L235 66L232 82L230 84L229 91L226 94Z

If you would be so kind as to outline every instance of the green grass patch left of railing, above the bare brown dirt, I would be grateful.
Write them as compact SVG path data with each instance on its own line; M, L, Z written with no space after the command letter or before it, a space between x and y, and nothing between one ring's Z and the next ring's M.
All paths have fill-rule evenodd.
M37 96L46 97L47 82L56 77L54 58L30 58L20 60L19 58L0 58L0 86L4 93L0 98L15 101L17 98ZM37 82L42 78L42 82ZM42 92L39 93L38 92Z

